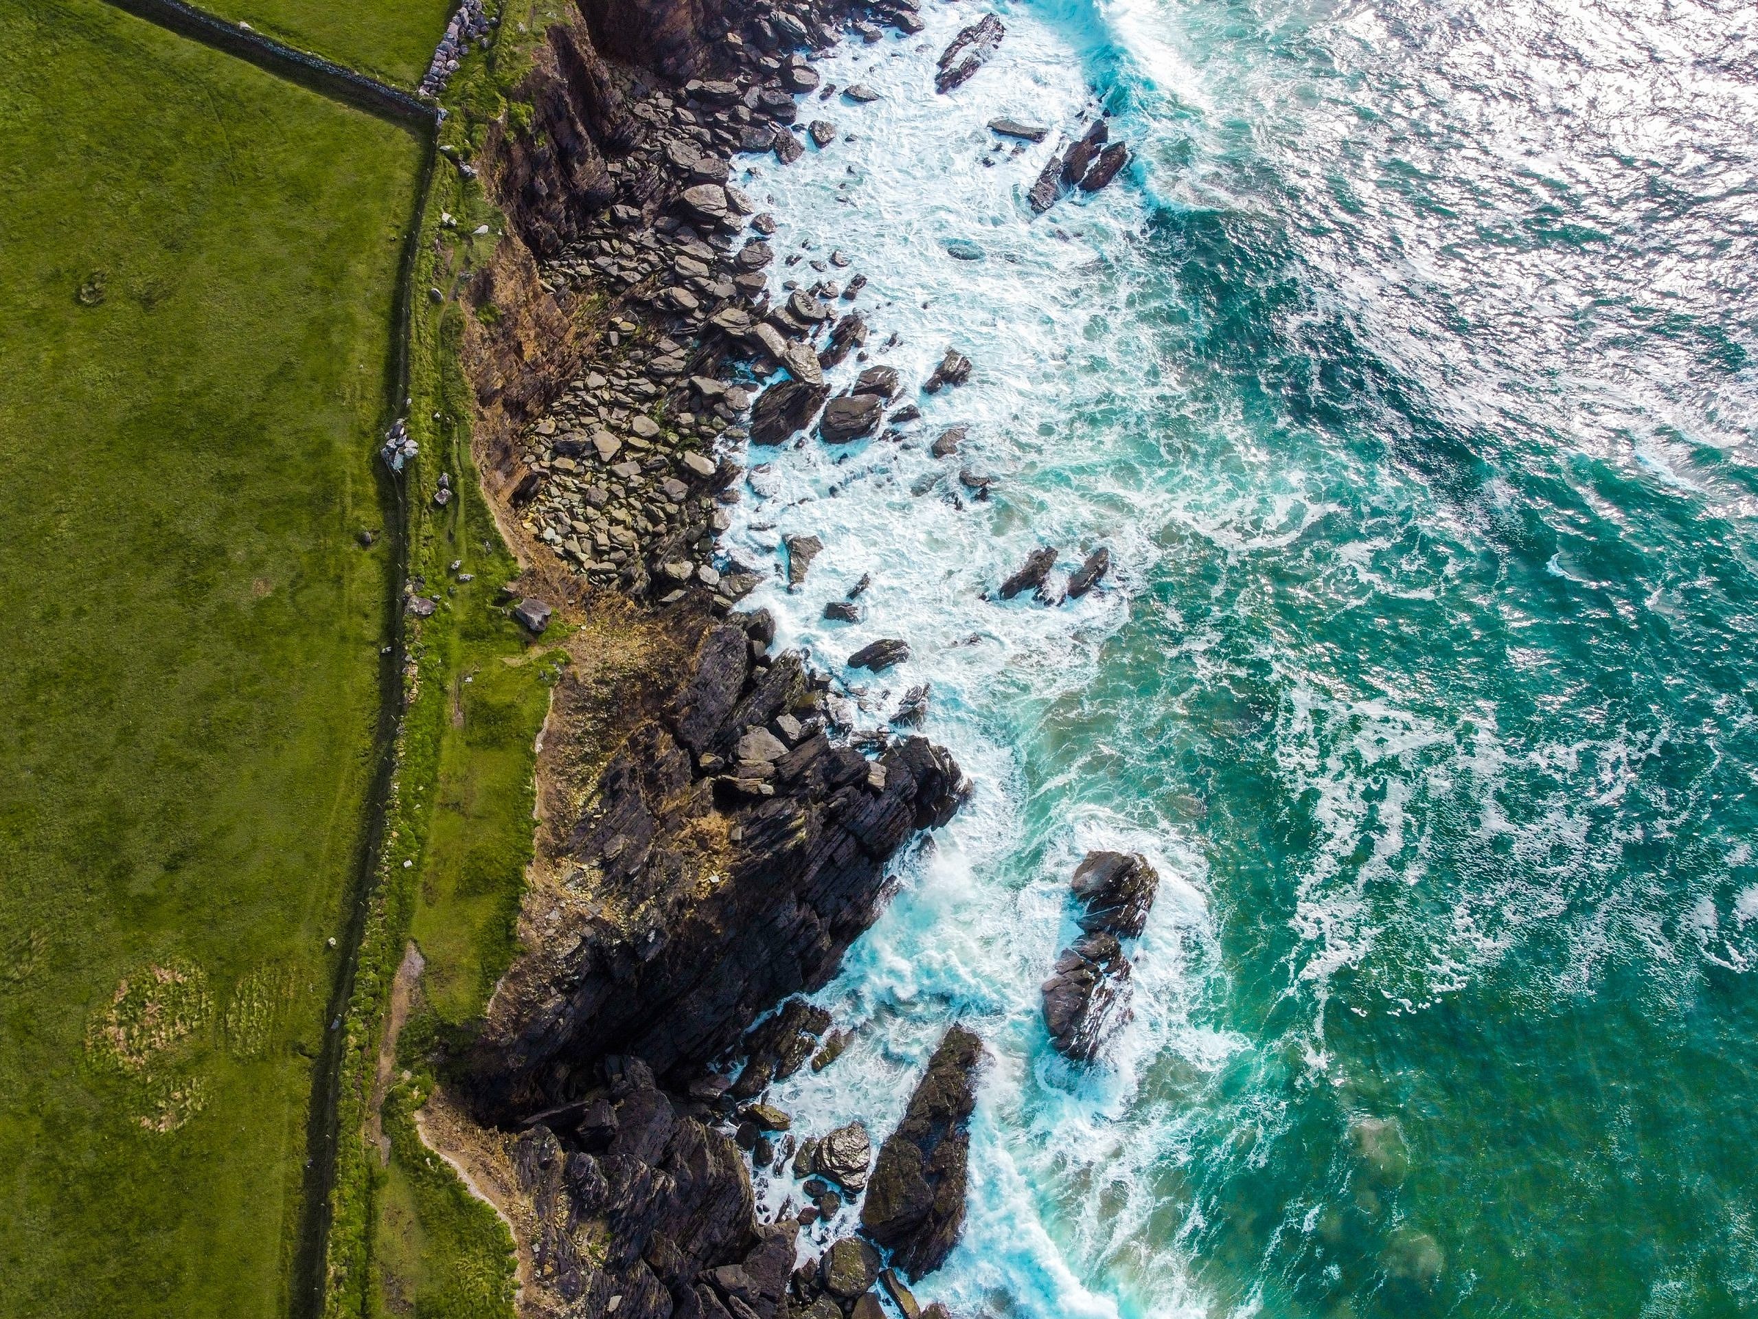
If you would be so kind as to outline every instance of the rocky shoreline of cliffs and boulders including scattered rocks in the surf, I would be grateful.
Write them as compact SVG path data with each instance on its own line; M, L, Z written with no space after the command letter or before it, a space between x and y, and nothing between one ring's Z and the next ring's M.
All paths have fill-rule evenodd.
M830 980L875 918L891 858L944 825L967 784L926 739L858 733L833 675L772 654L774 621L738 608L761 575L717 545L745 441L816 431L837 445L919 415L898 406L905 382L883 364L832 394L826 369L867 361L865 276L833 251L772 301L774 220L728 181L740 153L786 165L807 149L796 125L837 91L810 51L919 32L916 14L914 0L585 0L582 21L543 33L520 88L529 123L490 137L475 164L454 160L482 171L512 229L510 255L476 288L489 329L471 331L466 368L478 470L527 565L517 616L540 631L552 612L635 608L665 656L638 693L575 693L599 707L587 723L608 725L594 742L605 754L580 751L591 769L571 790L540 784L564 804L540 848L548 879L454 1068L499 1150L489 1180L513 1187L517 1205L501 1208L526 1314L877 1319L879 1287L905 1319L939 1312L867 1240L826 1242L819 1226L825 1249L805 1252L802 1231L865 1191L867 1236L911 1279L939 1266L963 1221L981 1041L948 1034L877 1164L860 1124L791 1133L761 1099L802 1066L833 1066L844 1036L793 995ZM993 14L965 28L939 90L970 79L1002 39ZM1102 130L1058 153L1067 185L1122 165L1122 148L1097 153ZM810 118L805 135L826 148L835 127ZM972 369L948 350L919 389L955 389ZM948 429L935 457L953 459L960 438ZM962 480L983 496L984 478ZM786 545L793 586L819 549L814 536ZM1042 596L1055 554L1035 554L1004 594ZM1108 565L1095 550L1069 593ZM858 617L860 589L826 614ZM907 656L881 640L847 665L883 672ZM891 725L925 703L912 689ZM550 732L568 740L554 718ZM548 754L563 763L566 746ZM803 1206L761 1222L751 1168L791 1171Z

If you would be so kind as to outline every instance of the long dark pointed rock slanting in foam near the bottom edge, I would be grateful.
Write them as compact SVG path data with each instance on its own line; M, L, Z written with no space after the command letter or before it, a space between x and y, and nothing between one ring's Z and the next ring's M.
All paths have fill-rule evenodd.
M861 1226L911 1280L941 1266L965 1224L965 1166L983 1041L962 1025L941 1039L897 1131L879 1148Z

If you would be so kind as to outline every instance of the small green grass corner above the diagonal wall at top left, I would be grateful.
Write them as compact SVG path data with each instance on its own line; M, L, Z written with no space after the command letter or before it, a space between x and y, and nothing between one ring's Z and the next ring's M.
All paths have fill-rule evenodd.
M457 0L192 0L288 46L415 88Z

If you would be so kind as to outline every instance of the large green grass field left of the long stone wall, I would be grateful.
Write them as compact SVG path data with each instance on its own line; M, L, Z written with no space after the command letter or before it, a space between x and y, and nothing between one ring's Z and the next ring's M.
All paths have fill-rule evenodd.
M420 151L95 0L11 14L0 1314L283 1314Z

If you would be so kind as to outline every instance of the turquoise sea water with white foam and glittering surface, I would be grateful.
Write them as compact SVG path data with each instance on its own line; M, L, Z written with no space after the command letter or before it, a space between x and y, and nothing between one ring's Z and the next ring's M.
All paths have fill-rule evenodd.
M1758 1312L1758 12L1042 0L935 97L981 12L842 49L881 100L802 118L854 141L744 179L777 287L840 250L874 361L977 364L752 454L735 552L826 543L784 640L907 638L861 718L930 682L976 781L777 1097L877 1136L984 1034L919 1289L970 1317ZM1129 172L1034 220L1055 135L984 123L1101 104ZM984 600L1039 543L1118 568ZM1095 846L1162 888L1076 1069L1037 985Z

